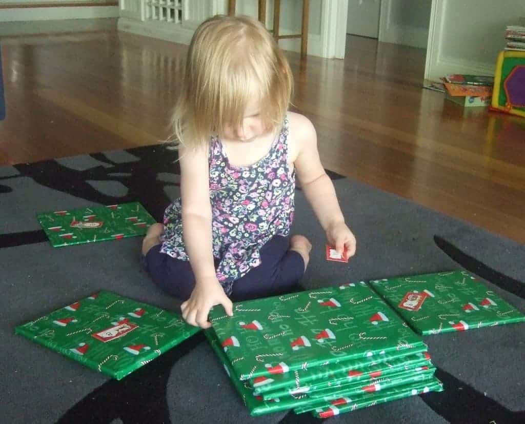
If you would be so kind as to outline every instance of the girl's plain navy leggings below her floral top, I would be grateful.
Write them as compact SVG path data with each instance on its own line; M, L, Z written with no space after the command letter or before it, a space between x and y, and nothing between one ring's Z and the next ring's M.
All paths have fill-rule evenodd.
M146 253L146 270L163 291L185 301L195 287L190 262L161 253L160 248L161 245L153 246ZM230 298L241 301L294 291L304 274L304 260L298 252L289 248L288 237L271 238L260 250L261 264L233 283Z

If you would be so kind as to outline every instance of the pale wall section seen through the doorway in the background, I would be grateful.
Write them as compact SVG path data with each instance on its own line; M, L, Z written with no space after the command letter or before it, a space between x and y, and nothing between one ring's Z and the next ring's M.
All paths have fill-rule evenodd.
M431 6L432 0L382 0L379 41L426 48Z

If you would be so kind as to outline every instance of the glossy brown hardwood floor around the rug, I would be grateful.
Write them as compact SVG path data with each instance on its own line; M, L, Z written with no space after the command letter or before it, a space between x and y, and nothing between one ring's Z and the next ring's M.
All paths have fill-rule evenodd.
M119 34L103 21L2 38L1 164L169 135L186 47ZM525 119L422 89L421 49L349 36L344 61L287 55L296 110L316 126L325 167L525 242Z

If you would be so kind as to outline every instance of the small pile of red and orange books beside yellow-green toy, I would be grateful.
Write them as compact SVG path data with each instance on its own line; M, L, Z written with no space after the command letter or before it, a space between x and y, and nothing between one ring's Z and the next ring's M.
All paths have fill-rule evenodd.
M464 107L489 106L494 77L451 74L443 78L446 99Z

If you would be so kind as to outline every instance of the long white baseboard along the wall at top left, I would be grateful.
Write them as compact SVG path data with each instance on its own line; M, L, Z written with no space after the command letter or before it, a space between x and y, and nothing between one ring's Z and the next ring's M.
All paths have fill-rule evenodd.
M119 6L27 7L2 9L0 22L25 20L116 18Z

